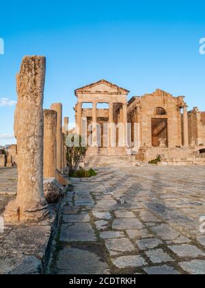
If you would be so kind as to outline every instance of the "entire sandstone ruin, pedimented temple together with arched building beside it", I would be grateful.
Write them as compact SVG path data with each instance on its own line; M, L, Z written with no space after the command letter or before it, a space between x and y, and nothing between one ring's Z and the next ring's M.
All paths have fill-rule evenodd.
M167 163L202 160L204 112L197 108L188 112L184 96L174 97L160 89L129 101L128 93L105 80L75 91L76 132L88 146L87 155L129 154L145 162L161 155ZM100 108L99 104L108 105Z

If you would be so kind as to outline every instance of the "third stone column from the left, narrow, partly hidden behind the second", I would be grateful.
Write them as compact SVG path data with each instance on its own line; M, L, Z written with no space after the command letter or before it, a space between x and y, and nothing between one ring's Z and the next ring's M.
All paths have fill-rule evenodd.
M57 130L56 130L56 147L57 147L57 170L61 171L62 155L62 104L55 103L51 105L51 110L57 112Z

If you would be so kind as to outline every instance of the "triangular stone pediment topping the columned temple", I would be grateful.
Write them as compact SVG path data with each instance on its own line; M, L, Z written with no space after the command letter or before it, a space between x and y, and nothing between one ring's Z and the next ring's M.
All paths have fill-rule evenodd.
M128 95L129 91L121 88L106 80L100 80L96 83L83 86L75 91L75 95L78 94L114 94L114 95Z

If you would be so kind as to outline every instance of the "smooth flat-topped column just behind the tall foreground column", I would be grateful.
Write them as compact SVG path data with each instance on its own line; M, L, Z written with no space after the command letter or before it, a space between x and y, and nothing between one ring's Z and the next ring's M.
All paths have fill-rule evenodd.
M56 178L57 112L44 110L44 178Z

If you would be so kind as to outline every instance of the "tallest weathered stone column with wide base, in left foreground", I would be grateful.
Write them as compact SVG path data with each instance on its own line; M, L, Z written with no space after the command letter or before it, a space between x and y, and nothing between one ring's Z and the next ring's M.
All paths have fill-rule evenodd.
M50 214L43 188L45 69L44 57L25 56L16 77L14 132L18 146L18 187L16 200L5 209L6 222L40 221Z

